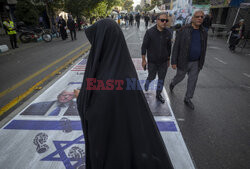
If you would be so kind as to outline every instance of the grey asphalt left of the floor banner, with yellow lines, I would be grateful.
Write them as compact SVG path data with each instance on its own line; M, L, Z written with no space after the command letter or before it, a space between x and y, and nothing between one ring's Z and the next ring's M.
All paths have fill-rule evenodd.
M83 31L77 32L77 38L76 41L71 41L69 36L65 41L58 38L49 43L38 42L19 45L18 49L2 53L0 55L0 107L6 106L13 99L25 93L37 82L89 46ZM22 84L19 85L20 82ZM11 92L9 92L10 90ZM35 91L32 94L34 93ZM27 98L18 105L25 100ZM0 120L17 106L4 113L4 116L0 116Z

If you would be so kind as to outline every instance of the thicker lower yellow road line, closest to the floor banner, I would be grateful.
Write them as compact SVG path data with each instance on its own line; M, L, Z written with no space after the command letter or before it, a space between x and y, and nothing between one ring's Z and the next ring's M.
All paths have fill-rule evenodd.
M80 49L80 48L79 48ZM54 72L52 72L51 74L47 75L46 77L44 77L41 81L39 81L38 83L36 83L34 86L32 86L31 88L29 88L26 92L24 92L23 94L21 94L20 96L16 97L15 99L13 99L12 101L10 101L7 105L3 106L0 109L0 116L3 115L6 111L8 111L9 109L11 109L12 107L14 107L17 103L19 103L22 99L24 99L25 97L27 97L30 93L32 93L37 87L41 86L41 84L43 84L46 80L48 80L49 78L51 78L52 76L56 75L60 70L62 70L63 68L65 68L66 66L68 66L69 64L71 64L73 61L75 61L76 59L78 59L81 55L83 55L84 53L86 53L88 50L90 49L90 46L88 46L85 50L79 52L77 55L75 55L73 58L71 58L70 60L68 60L67 62L65 62L64 65L60 66L59 68L57 68Z

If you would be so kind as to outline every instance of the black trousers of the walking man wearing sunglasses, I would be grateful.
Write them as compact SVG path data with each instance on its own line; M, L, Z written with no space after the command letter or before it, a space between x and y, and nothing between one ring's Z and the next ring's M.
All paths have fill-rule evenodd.
M150 82L152 82L155 79L156 74L158 74L156 95L159 95L162 92L167 70L168 70L168 62L161 64L148 63L148 77L145 86L148 87Z

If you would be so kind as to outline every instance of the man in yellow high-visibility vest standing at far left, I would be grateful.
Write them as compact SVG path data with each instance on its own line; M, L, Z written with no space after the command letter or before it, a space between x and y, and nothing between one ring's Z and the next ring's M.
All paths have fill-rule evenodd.
M16 28L14 25L14 22L12 22L9 17L4 17L4 29L7 31L7 34L10 37L10 44L12 49L18 48L17 46L17 40L16 40Z

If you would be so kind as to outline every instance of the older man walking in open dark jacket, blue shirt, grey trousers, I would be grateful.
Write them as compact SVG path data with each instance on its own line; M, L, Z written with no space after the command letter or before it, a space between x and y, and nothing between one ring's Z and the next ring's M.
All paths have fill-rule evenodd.
M172 92L175 85L181 82L188 74L187 91L184 103L191 109L194 105L191 98L203 67L207 48L207 31L201 26L204 12L199 10L193 14L191 25L180 29L175 40L171 59L172 68L177 68L177 74L170 83Z

